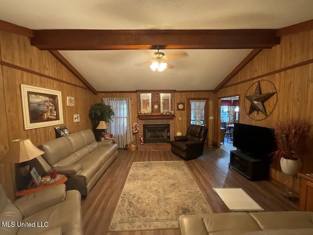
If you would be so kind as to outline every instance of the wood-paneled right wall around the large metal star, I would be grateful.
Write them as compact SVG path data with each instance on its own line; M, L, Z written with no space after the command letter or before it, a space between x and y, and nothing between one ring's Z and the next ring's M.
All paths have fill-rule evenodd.
M312 59L313 30L283 36L280 45L262 50L216 94L216 97L240 95L239 121L241 123L274 127L276 122L291 117L307 118L313 122ZM271 81L275 85L278 99L273 113L268 118L257 121L246 114L244 100L249 86L262 79ZM265 87L262 93L266 93L266 89ZM216 104L218 104L217 99ZM216 112L218 115L218 110ZM310 145L308 153L301 156L301 172L313 172L312 137ZM291 179L281 174L279 164L271 164L270 176L273 180L291 187ZM296 188L298 190L297 184Z

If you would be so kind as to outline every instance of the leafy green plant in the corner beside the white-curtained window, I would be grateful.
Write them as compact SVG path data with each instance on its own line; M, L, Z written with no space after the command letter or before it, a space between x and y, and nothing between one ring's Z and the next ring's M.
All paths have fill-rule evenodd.
M107 123L112 120L114 116L114 111L112 110L111 106L105 105L103 103L96 103L91 105L89 109L89 119L92 123L92 130L95 133L95 136L99 136L101 130L96 130L100 121L106 121Z

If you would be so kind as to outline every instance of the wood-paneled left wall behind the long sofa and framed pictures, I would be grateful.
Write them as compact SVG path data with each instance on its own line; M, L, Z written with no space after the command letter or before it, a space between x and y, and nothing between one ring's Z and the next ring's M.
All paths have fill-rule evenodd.
M24 130L20 84L62 92L64 125L71 133L91 128L90 106L97 95L69 72L48 51L32 47L25 36L0 31L0 158L8 151L11 141L29 138L35 145L55 139L55 126ZM72 96L75 106L67 106ZM80 115L80 122L73 115ZM11 165L0 164L0 183L14 200Z

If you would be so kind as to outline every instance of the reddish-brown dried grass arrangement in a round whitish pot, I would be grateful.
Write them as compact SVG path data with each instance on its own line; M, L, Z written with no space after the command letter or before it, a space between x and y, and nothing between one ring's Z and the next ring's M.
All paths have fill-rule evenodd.
M304 152L305 140L312 124L308 120L291 118L276 123L277 150L272 158L280 161L282 171L296 175L301 167L300 156Z

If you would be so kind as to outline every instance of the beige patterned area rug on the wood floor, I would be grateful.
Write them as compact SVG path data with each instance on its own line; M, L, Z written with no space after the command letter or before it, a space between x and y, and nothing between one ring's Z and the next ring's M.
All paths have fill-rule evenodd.
M179 215L209 212L183 161L134 162L109 232L178 229Z

